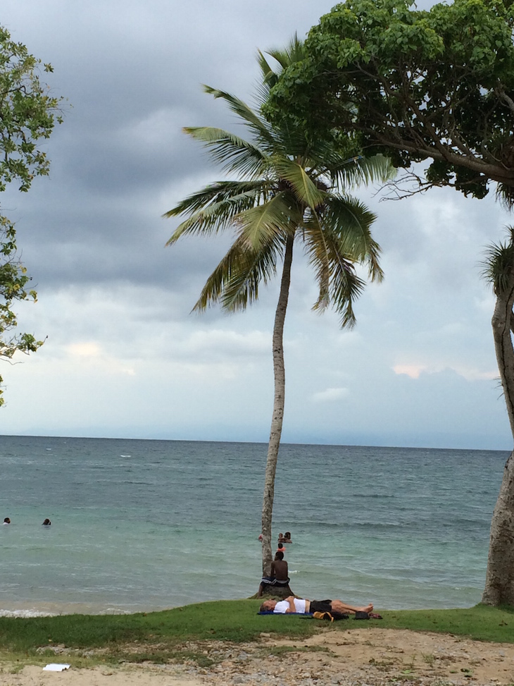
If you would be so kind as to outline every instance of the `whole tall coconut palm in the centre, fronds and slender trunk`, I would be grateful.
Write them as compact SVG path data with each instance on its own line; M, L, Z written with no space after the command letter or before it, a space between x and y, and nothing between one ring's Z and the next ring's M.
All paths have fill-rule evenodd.
M284 51L272 51L282 68L301 59L303 44L296 38ZM262 106L278 78L259 53L263 82L258 93ZM341 326L355 323L353 301L364 281L354 264L365 263L371 279L382 279L380 248L372 239L375 216L347 195L348 185L390 176L391 166L383 157L365 159L349 154L349 137L341 149L306 140L301 128L272 128L260 111L227 92L204 87L207 93L227 102L244 123L251 137L219 128L185 128L184 132L205 145L213 160L233 180L208 185L182 200L163 216L185 215L168 240L173 245L184 235L211 235L230 229L234 243L208 277L194 310L205 310L215 302L230 312L244 310L258 298L261 281L267 284L282 262L280 295L272 336L275 402L273 405L262 512L263 573L272 561L271 522L275 471L284 416L284 320L289 297L293 247L302 243L318 283L314 310L332 305ZM341 152L342 150L342 152ZM342 189L342 190L341 190Z

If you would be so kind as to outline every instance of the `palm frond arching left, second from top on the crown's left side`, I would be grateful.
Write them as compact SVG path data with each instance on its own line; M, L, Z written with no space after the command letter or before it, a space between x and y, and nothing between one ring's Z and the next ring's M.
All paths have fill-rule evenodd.
M239 176L260 176L269 164L268 157L258 147L230 131L213 126L187 126L183 131L201 141L225 171L235 171Z

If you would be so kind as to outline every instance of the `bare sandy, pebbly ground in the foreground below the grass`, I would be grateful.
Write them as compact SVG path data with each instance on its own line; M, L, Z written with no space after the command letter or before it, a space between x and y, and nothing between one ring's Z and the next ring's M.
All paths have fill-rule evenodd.
M1 686L382 686L413 683L507 685L514 682L514 645L471 641L446 634L332 627L299 641L261 635L251 644L188 644L214 660L194 663L99 666L46 672L4 664ZM295 650L297 649L297 650ZM56 655L65 662L65 651Z

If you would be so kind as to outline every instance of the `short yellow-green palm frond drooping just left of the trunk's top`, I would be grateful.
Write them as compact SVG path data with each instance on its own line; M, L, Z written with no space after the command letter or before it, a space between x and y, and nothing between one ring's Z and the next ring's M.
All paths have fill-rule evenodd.
M239 235L250 250L256 251L275 240L276 235L291 231L300 220L298 207L292 205L289 194L284 191L237 216Z

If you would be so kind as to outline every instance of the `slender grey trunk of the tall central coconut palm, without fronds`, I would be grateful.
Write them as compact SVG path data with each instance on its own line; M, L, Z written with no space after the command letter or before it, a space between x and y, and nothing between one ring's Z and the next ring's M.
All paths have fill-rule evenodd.
M268 443L268 458L264 477L263 496L263 575L268 576L271 570L271 520L273 515L273 498L275 497L275 472L277 471L278 449L282 436L282 421L284 419L284 400L286 391L286 374L284 368L284 321L286 319L287 300L289 299L289 284L291 283L291 264L293 261L294 235L288 235L284 255L284 268L280 282L275 325L273 326L273 375L275 377L275 398L273 415L271 418L270 442Z

